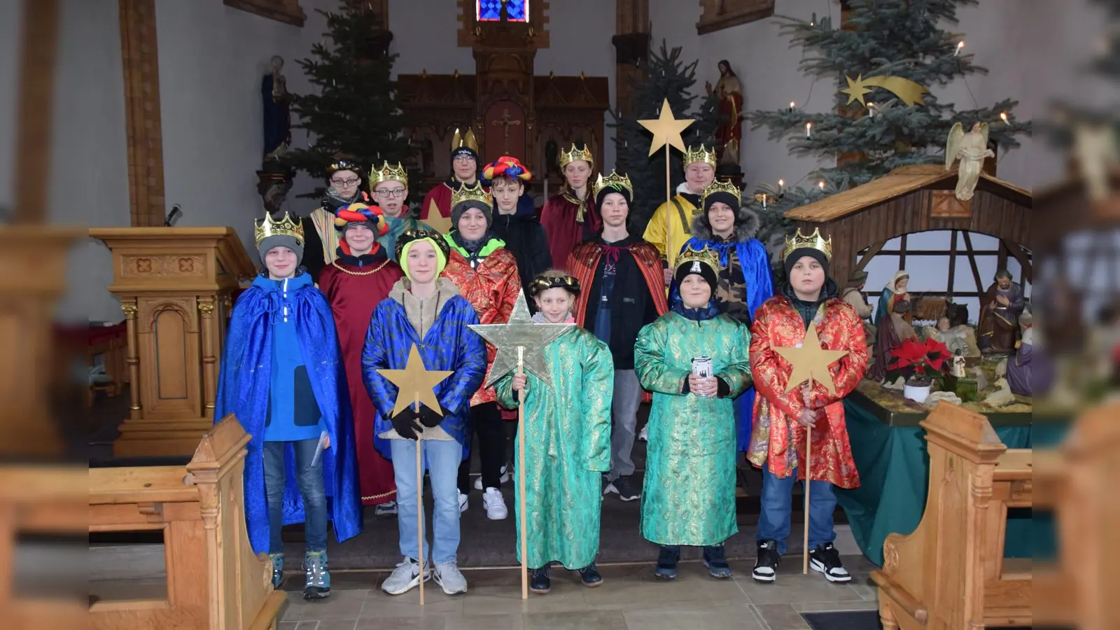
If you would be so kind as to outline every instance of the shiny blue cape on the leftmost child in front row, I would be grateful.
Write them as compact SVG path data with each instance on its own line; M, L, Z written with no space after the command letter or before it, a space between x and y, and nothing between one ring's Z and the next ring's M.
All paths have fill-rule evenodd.
M346 540L362 531L362 503L357 488L357 455L346 377L339 361L338 336L326 298L314 286L296 291L296 331L311 390L330 435L323 452L323 483L327 517L335 537ZM264 495L264 415L272 370L272 318L280 307L278 291L250 287L237 298L225 337L225 352L217 380L214 420L236 416L252 436L245 455L245 525L254 553L269 550L269 517ZM295 453L284 457L284 525L304 522L304 500L296 485Z

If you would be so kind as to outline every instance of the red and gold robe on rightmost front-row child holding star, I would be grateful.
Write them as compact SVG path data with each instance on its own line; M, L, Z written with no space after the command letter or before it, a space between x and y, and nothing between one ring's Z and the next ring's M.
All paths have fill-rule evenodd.
M813 383L810 407L823 408L813 430L813 470L809 479L828 481L840 488L858 488L859 473L851 456L844 426L843 398L851 393L867 371L867 341L856 309L839 298L829 298L816 314L821 345L847 350L848 354L830 368L836 396L820 382ZM785 391L793 365L774 348L794 348L805 339L805 323L790 299L776 295L755 312L750 327L750 373L755 379L754 430L747 458L756 466L769 466L778 476L805 479L805 428L797 416L805 409L802 389Z

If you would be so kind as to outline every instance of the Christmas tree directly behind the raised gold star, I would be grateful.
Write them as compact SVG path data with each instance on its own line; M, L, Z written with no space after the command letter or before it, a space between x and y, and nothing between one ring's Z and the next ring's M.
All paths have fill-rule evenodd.
M633 224L641 233L653 216L657 206L665 202L665 154L660 150L650 155L650 143L653 137L638 120L657 118L661 104L669 99L669 106L676 118L694 118L681 135L687 146L704 142L712 146L712 133L719 124L719 98L707 95L696 111L692 103L697 96L692 94L696 85L696 71L699 62L684 65L681 61L681 49L670 50L665 41L661 49L651 52L650 58L642 64L644 80L634 86L634 115L624 117L618 111L610 112L614 122L607 127L616 130L615 169L629 176L634 184L634 204L631 215ZM681 164L680 151L673 150L670 174L672 187L684 180L684 165Z

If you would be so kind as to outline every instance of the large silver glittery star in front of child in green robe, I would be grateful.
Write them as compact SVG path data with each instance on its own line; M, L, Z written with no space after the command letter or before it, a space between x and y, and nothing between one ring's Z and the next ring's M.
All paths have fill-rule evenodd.
M526 372L552 386L549 367L544 363L544 346L576 324L534 324L529 315L529 304L525 302L524 289L517 291L517 302L513 304L513 313L507 324L474 324L470 330L484 340L494 344L497 355L494 367L486 379L486 387L517 369L517 348L523 348Z

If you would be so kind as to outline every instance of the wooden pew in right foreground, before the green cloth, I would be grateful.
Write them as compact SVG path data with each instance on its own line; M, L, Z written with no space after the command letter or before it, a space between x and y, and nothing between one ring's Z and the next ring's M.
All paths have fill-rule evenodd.
M1004 558L1007 509L1030 506L1030 451L1008 450L983 416L945 402L921 426L925 513L912 534L887 536L871 573L884 630L1030 626L1030 560Z

